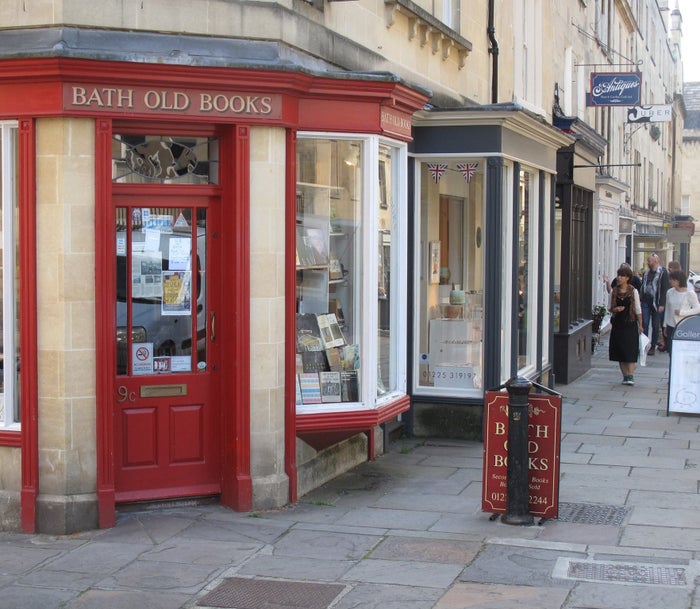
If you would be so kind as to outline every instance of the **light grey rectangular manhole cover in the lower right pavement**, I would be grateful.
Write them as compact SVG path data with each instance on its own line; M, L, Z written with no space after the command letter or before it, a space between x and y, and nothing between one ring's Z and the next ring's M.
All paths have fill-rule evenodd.
M567 577L603 582L633 584L687 585L683 567L660 565L631 565L623 563L570 562Z

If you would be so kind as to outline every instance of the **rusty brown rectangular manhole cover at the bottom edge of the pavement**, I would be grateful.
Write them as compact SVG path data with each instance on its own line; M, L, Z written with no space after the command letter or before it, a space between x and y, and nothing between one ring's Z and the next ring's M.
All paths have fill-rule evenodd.
M234 609L326 609L345 586L270 579L225 579L197 605Z

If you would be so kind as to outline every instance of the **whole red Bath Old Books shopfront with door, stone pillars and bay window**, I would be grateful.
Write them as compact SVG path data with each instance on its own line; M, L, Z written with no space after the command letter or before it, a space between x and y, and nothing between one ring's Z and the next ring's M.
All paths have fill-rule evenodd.
M24 531L111 526L123 502L219 496L243 511L293 502L297 437L322 450L408 408L396 369L405 345L387 342L405 313L380 303L391 319L381 339L379 308L360 319L362 298L374 297L359 281L376 260L359 250L371 231L378 256L401 271L405 234L382 218L401 216L386 209L405 194L422 92L386 77L79 59L4 62L0 91L0 119L18 131L23 354L19 429L0 431L0 445L21 451ZM346 150L358 151L355 165L338 156ZM313 171L300 174L300 158ZM350 399L307 403L292 391L300 306L312 306L299 295L325 273L333 293L322 311L342 288L328 287L328 265L295 264L299 226L325 222L308 205L300 216L299 200L323 190L341 205L343 188L365 216L350 226L357 247L344 248L355 254L336 280L347 291L358 278L345 342L369 345L372 365L393 363ZM373 222L375 199L385 211ZM384 264L373 281L386 300ZM283 472L266 462L275 451ZM52 459L61 479L48 473ZM270 478L279 488L267 492L258 480Z

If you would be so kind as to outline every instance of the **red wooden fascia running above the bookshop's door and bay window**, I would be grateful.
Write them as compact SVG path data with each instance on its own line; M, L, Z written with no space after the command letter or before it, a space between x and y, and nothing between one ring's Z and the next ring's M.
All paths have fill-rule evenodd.
M428 96L391 79L328 78L289 71L205 66L175 66L99 61L74 58L30 58L3 61L0 74L2 116L89 116L90 107L64 110L63 85L75 83L99 88L148 87L149 90L188 89L246 92L280 96L276 116L193 115L173 118L173 111L134 114L115 107L107 116L141 120L187 120L190 123L278 124L302 130L329 129L361 133L386 133L410 140L410 116L422 108ZM407 128L383 121L382 110L407 121Z

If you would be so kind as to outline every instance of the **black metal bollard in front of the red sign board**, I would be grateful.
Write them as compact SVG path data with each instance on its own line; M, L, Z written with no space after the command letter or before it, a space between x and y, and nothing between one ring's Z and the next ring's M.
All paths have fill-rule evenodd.
M532 383L522 377L506 383L508 390L508 475L506 512L501 522L532 524L528 455L528 399Z

